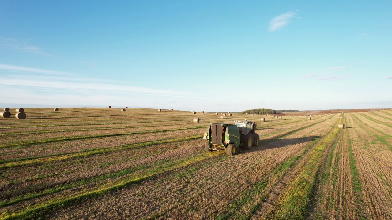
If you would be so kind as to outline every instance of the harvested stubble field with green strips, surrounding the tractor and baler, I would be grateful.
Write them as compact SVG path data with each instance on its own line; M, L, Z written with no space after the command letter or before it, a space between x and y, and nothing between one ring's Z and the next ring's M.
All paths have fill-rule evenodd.
M391 110L25 113L0 118L0 219L392 219ZM259 146L205 152L209 123L237 119L258 123Z

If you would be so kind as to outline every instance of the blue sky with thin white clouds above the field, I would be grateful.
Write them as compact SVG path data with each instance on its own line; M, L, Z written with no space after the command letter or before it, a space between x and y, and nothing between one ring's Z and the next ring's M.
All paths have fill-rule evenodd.
M3 0L0 104L392 108L391 8L392 1Z

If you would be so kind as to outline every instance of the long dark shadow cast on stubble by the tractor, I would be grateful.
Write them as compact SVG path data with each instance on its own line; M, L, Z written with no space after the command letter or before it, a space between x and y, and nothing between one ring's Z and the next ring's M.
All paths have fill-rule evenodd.
M321 136L307 136L300 138L282 138L282 139L263 139L260 140L259 146L252 147L250 150L242 150L242 153L248 153L253 151L268 150L273 148L283 148L292 144L299 144L304 142L312 142Z

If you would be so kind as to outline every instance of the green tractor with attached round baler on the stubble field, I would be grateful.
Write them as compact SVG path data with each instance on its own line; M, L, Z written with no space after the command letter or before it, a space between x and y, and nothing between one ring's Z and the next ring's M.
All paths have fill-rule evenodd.
M260 136L255 133L257 124L252 121L234 121L234 124L210 123L203 139L205 150L226 150L227 155L241 153L241 149L249 150L258 146Z

